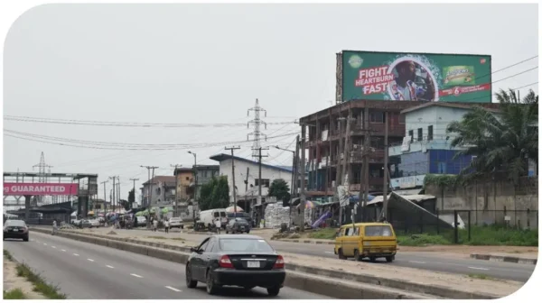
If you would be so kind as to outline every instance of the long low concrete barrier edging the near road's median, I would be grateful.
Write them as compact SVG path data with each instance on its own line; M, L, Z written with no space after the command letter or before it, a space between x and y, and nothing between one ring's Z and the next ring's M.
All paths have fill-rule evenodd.
M34 232L51 234L50 230L33 228ZM80 233L59 232L58 236L76 241L95 243L131 253L139 253L150 257L186 263L190 255L190 247L164 243L152 243L129 239L122 241L114 237L98 237ZM101 239L104 238L104 239ZM113 238L113 239L111 239ZM303 289L332 298L499 298L485 293L472 293L460 289L446 289L442 286L426 285L402 279L384 279L366 273L347 273L298 265L286 264L285 286ZM332 278L332 279L330 279Z

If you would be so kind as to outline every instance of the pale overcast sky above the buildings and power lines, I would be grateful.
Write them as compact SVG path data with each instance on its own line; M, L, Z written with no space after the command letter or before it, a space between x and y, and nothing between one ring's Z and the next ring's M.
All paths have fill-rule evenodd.
M126 199L172 165L218 164L209 157L239 145L256 99L266 109L263 146L294 149L294 120L334 104L341 50L479 53L492 69L538 53L537 5L41 5L5 38L4 115L177 127L51 124L4 119L4 170L119 176ZM495 72L499 88L537 92L538 59ZM263 115L263 114L262 114ZM188 127L187 124L198 124ZM214 124L214 125L213 125ZM6 130L26 133L19 137ZM29 137L31 133L33 137ZM14 133L11 133L12 135ZM36 136L37 135L37 136ZM73 147L43 141L67 139ZM91 141L96 144L78 143ZM108 143L103 143L108 142ZM113 146L115 144L115 146ZM104 150L134 145L138 150ZM156 144L177 144L170 150ZM150 147L149 147L150 146ZM267 163L288 165L271 147ZM107 184L107 192L111 182ZM102 193L100 187L98 194ZM100 196L101 197L101 196Z

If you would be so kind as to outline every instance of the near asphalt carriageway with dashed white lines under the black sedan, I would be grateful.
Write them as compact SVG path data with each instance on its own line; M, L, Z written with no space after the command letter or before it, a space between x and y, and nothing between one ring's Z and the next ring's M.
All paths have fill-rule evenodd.
M187 289L184 266L137 253L31 233L30 242L5 241L4 249L72 299L212 299L205 285ZM222 298L270 298L266 289L225 288ZM330 299L281 289L277 299Z

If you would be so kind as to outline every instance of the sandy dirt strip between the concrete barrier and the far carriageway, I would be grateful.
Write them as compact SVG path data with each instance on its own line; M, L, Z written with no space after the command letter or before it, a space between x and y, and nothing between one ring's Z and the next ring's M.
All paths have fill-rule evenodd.
M123 231L115 231L117 234L108 234L110 230L93 230L83 232L82 234L107 234L108 236L113 236L116 238L126 238L126 233ZM135 231L132 231L135 232ZM128 236L132 239L138 239L149 242L157 243L167 243L171 245L187 246L193 245L195 243L182 240L174 240L176 237L179 239L185 234L169 234L170 238L165 236L168 234L164 233L153 233L154 235L141 234L141 233L130 233L132 236ZM164 237L164 238L153 238L154 237ZM304 256L301 254L295 253L282 253L285 256L286 262L294 262L299 265L304 265L308 267L322 268L333 271L344 271L350 273L367 273L379 278L388 278L397 280L397 277L407 277L408 281L416 281L416 283L435 285L444 288L452 289L462 289L464 291L471 292L480 292L481 289L483 292L491 293L499 297L505 297L509 294L520 289L524 283L511 281L511 280L481 280L473 279L465 275L449 274L444 272L435 272L435 271L424 271L417 270L413 268L403 268L398 266L382 266L378 264L371 264L368 262L352 262L338 259L329 259L322 257L313 257L313 256ZM405 279L406 280L406 279Z

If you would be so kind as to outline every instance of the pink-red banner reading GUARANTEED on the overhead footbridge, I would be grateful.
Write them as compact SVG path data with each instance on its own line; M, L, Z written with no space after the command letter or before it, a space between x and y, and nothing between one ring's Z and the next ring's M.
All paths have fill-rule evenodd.
M77 183L4 183L4 196L76 196Z

